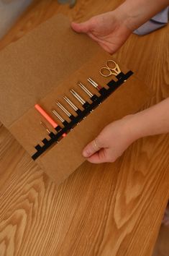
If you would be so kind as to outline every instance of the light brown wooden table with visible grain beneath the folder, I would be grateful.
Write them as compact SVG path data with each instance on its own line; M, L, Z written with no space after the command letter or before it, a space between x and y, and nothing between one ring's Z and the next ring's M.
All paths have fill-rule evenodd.
M73 20L114 9L121 1L34 1L0 41L3 49L52 15ZM169 95L169 26L132 35L115 54L155 90ZM137 95L136 95L137 97ZM0 256L152 255L169 192L169 137L147 137L111 164L84 163L60 187L0 124Z

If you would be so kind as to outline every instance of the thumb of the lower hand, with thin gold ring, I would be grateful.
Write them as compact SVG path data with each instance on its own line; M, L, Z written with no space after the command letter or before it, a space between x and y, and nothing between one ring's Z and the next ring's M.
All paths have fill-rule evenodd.
M101 142L97 137L95 140L91 141L84 149L83 149L83 156L85 158L90 157L97 151L101 149Z

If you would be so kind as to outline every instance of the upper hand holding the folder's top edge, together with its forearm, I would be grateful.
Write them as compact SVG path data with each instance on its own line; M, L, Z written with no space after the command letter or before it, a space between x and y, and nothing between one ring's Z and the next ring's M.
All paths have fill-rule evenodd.
M78 33L86 33L109 54L114 54L132 31L165 7L168 7L168 0L127 0L112 12L80 24L72 22L71 27Z

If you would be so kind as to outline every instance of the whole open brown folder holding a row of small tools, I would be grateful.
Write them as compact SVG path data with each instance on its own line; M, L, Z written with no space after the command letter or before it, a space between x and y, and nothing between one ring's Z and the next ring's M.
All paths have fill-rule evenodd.
M52 115L52 109L56 109L65 120L70 120L56 106L56 100L63 103L73 115L76 113L63 101L64 95L74 101L78 108L83 108L70 95L71 88L90 101L88 95L78 88L78 82L83 82L96 95L99 93L87 82L88 77L105 88L110 81L117 82L116 77L101 77L99 73L108 59L113 57L87 35L73 32L69 20L61 14L1 51L0 119L30 157L36 153L36 145L42 146L45 138L50 140L40 121L44 121L55 132L37 112L35 104L40 104L62 126ZM116 61L122 72L129 71ZM152 92L147 86L132 74L73 127L66 137L58 143L52 143L36 158L36 163L60 184L85 161L81 154L84 146L106 124L139 111L151 96Z

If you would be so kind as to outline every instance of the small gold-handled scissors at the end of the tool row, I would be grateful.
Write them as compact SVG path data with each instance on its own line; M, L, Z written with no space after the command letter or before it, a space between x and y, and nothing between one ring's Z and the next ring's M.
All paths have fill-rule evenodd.
M111 59L106 61L106 67L101 67L100 69L100 74L103 77L110 77L111 75L114 75L115 77L117 77L117 75L120 73L121 73L121 70L119 68L119 65Z

